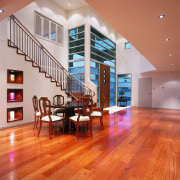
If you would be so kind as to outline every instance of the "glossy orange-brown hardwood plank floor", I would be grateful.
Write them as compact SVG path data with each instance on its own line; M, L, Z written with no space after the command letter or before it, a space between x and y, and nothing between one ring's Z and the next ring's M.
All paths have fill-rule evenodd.
M178 180L180 111L128 108L93 121L93 137L33 124L0 130L0 180Z

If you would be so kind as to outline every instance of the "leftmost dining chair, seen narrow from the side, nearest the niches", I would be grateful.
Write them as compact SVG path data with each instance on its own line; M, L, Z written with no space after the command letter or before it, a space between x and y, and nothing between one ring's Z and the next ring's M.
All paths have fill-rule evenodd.
M32 102L33 102L33 107L34 107L34 126L33 126L33 129L34 128L38 129L37 125L38 125L38 122L39 122L40 117L41 117L41 112L39 110L39 102L38 102L38 98L36 95L33 96Z

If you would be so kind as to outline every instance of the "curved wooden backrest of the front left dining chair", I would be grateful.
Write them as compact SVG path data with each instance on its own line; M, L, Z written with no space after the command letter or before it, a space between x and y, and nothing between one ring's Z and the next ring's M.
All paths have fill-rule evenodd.
M41 97L39 99L39 108L41 111L42 116L50 115L51 114L51 103L47 97Z

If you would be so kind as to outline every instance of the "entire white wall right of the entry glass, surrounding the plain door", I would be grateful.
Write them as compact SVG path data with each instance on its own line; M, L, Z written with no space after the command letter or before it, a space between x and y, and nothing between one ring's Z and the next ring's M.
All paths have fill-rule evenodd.
M125 49L127 40L117 41L117 74L132 74L132 106L138 106L139 78L152 78L152 108L180 109L180 72L153 72L152 66L133 46ZM146 72L146 73L143 73Z

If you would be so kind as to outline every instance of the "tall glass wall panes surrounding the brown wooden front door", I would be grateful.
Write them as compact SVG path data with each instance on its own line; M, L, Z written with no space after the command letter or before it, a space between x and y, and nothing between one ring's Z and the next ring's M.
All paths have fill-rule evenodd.
M90 79L97 85L97 105L99 105L100 63L110 67L110 106L116 104L116 44L91 27Z

